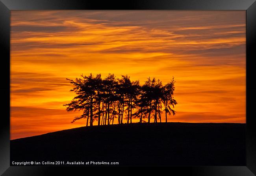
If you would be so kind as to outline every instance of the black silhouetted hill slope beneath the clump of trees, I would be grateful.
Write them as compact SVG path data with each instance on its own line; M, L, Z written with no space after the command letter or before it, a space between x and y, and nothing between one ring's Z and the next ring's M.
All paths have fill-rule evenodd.
M11 140L12 161L119 165L245 165L245 124L133 123Z

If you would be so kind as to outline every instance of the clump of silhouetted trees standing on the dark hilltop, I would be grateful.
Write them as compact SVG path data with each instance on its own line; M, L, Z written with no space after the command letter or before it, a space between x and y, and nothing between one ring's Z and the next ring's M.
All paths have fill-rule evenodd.
M83 111L71 123L82 118L87 119L86 126L88 122L92 126L94 121L98 121L98 125L113 124L115 118L118 124L132 123L135 118L139 118L140 123L150 123L153 118L156 123L158 120L162 122L162 112L165 112L167 122L167 114L176 113L173 110L177 104L173 98L174 78L166 85L156 78L148 78L140 85L138 80L131 81L128 75L116 78L109 73L104 79L101 74L81 77L76 80L67 79L74 85L70 91L74 91L76 96L64 106L68 112Z

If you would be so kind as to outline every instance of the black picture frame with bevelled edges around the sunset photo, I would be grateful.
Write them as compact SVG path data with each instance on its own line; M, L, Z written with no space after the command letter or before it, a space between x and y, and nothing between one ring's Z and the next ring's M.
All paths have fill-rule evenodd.
M0 174L3 176L76 175L88 167L10 166L10 11L11 10L246 10L246 165L245 166L171 166L169 173L200 176L253 176L256 174L256 2L255 0L0 0L0 45L2 113L0 121ZM106 171L106 167L104 167ZM148 169L145 169L148 171ZM54 172L53 172L54 171ZM95 174L98 169L93 168ZM127 171L127 170L126 170Z

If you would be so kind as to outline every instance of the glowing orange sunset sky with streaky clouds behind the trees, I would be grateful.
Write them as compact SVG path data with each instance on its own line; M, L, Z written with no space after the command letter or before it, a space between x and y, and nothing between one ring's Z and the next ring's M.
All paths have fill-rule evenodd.
M169 122L245 123L245 13L11 11L11 139L84 126L63 107L82 73L174 76Z

